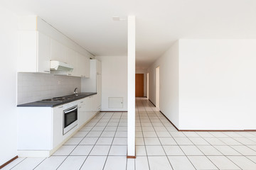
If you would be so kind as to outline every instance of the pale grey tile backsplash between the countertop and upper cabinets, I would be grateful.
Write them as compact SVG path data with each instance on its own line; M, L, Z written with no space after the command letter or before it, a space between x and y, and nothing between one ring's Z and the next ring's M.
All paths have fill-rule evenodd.
M18 73L17 103L29 103L46 98L73 94L76 87L78 87L78 92L80 92L80 77Z

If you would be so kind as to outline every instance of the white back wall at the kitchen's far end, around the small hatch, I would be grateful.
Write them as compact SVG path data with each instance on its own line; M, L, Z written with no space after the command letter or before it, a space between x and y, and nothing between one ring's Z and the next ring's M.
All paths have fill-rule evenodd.
M102 111L127 111L127 56L97 56L102 62ZM109 97L122 97L123 108L109 108Z

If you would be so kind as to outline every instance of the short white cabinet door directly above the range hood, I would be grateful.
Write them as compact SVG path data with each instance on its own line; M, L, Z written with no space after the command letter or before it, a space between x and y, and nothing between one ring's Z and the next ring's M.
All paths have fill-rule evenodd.
M50 60L68 63L68 47L50 38Z

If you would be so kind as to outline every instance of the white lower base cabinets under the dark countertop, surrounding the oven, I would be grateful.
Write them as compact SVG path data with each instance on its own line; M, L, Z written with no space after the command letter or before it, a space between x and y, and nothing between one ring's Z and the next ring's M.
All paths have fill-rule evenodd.
M78 101L78 126L63 135L63 106L18 108L18 157L49 157L98 111L96 95Z

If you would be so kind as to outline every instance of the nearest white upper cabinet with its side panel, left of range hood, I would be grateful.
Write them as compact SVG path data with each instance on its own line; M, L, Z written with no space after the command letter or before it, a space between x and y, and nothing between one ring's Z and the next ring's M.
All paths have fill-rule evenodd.
M50 73L50 38L36 30L20 31L18 72Z

